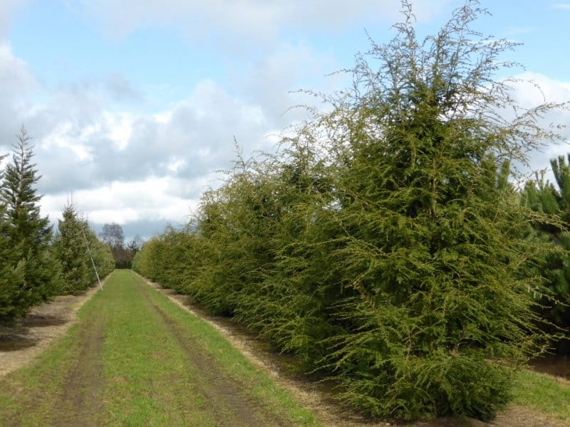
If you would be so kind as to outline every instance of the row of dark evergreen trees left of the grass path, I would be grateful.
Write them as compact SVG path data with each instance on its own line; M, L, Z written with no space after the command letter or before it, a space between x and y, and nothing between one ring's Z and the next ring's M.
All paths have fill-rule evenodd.
M101 243L73 204L53 236L40 214L35 184L40 179L24 127L0 182L0 322L11 322L54 295L75 293L95 281L87 248L100 275L114 268ZM6 157L6 156L4 156ZM4 158L3 157L3 158Z

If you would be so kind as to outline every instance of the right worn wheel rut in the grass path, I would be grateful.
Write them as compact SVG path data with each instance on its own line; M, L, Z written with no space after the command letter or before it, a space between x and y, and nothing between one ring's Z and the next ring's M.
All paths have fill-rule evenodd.
M188 364L195 367L198 377L194 378L197 391L204 396L209 406L209 414L217 421L219 426L288 426L279 420L266 420L259 414L262 408L242 394L237 384L227 379L219 368L212 362L207 354L185 336L180 326L158 307L147 293L142 290L142 295L162 322L167 326L167 331L175 339L178 346L184 351Z

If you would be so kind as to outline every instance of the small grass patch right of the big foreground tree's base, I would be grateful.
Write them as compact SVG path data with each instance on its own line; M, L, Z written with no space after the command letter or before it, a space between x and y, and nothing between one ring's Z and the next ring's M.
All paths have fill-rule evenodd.
M514 384L513 403L570 420L570 384L546 374L520 371Z

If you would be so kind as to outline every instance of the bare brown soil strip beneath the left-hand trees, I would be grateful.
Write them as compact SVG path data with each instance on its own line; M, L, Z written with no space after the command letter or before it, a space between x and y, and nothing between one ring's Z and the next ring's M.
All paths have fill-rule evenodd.
M76 312L99 287L81 295L64 295L33 307L11 327L0 326L0 377L29 364L76 322Z

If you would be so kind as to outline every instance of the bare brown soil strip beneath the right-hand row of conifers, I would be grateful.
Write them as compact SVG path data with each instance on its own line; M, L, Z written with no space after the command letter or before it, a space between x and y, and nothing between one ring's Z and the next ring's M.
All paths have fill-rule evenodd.
M144 279L144 278L143 278ZM146 280L146 279L144 279ZM193 304L187 295L177 294L173 290L161 288L160 285L146 280L153 288L159 290L180 307L192 315L199 317L221 332L224 337L239 349L253 364L266 371L279 386L296 397L300 404L314 413L318 421L328 427L563 427L567 421L559 421L543 413L522 406L511 406L499 413L492 423L470 418L456 417L437 418L433 421L415 421L413 423L388 423L361 416L351 408L339 405L334 401L330 384L310 381L306 376L291 369L291 357L276 354L259 337L227 317L209 315L202 307Z

